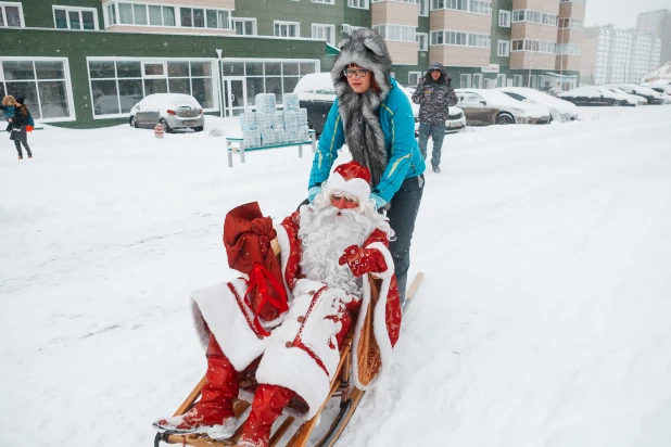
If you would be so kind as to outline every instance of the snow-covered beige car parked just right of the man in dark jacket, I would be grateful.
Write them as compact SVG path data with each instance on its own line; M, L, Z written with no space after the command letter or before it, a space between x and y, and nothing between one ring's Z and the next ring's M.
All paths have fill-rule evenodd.
M549 124L547 107L514 100L498 90L456 89L459 107L471 126Z

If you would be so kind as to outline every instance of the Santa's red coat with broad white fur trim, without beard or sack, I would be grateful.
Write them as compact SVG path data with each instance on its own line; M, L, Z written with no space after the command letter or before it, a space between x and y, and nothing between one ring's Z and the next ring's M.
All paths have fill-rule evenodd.
M301 274L300 213L276 225L280 244L281 274L289 298L289 310L274 321L254 322L250 303L245 303L246 279L239 278L192 294L192 310L201 341L212 332L224 354L238 371L263 355L256 370L256 381L294 391L308 406L308 411L294 417L307 420L320 408L337 373L339 346L354 324L353 353L357 346L367 312L372 317L372 336L377 375L391 366L392 347L398 340L401 306L393 260L388 250L389 239L374 230L356 253L341 261L353 263L371 273L379 283L379 298L372 305L369 274L363 274L358 294L331 288ZM350 248L350 247L349 247ZM359 253L360 252L360 253ZM367 388L375 382L359 380L359 365L353 356L355 386ZM377 378L376 375L376 378ZM363 378L363 375L360 376Z

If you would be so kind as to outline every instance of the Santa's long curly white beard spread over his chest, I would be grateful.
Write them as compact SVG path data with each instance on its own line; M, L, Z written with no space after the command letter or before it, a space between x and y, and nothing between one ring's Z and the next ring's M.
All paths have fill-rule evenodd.
M301 269L307 279L321 281L347 293L358 294L362 279L355 278L350 267L338 265L338 259L350 245L362 246L370 233L379 228L393 234L387 219L379 214L366 216L356 209L301 207L299 239L303 256Z

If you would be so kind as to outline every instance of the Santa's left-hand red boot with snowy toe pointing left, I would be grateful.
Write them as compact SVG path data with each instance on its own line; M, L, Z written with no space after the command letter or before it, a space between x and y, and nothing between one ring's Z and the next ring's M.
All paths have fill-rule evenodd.
M238 397L238 372L212 334L206 356L207 372L201 399L182 416L154 422L154 429L159 432L205 433L213 439L232 436L236 431L232 400Z

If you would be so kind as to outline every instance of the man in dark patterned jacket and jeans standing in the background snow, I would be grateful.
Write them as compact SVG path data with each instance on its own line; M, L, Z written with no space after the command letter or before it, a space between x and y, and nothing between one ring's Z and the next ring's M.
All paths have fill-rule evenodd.
M445 137L445 120L450 106L458 102L452 88L452 79L441 64L433 64L419 80L417 90L413 93L413 102L419 104L419 151L427 159L427 142L433 138L431 166L434 173L441 171L441 150Z

